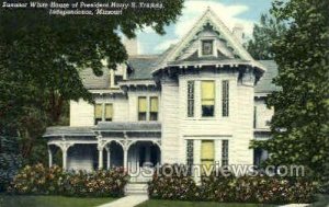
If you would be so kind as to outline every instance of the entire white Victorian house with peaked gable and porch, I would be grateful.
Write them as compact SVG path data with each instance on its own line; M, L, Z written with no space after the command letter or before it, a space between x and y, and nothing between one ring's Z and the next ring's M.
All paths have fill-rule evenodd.
M117 70L83 70L95 104L71 101L70 126L47 128L49 164L58 149L64 169L75 170L264 159L249 142L270 137L273 110L264 97L276 90L276 65L253 60L241 35L208 9L161 55L137 55L129 41L129 59Z

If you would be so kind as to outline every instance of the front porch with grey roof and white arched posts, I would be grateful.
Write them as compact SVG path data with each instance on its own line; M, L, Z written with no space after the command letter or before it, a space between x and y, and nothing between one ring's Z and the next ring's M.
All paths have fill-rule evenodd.
M49 166L56 151L61 152L64 170L123 166L129 173L144 164L161 162L159 123L99 123L94 127L49 127Z

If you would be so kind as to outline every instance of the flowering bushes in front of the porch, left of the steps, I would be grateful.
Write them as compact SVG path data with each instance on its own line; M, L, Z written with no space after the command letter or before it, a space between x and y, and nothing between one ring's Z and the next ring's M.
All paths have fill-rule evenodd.
M13 179L9 193L21 195L66 195L79 197L121 197L128 174L116 168L110 171L63 171L54 165L27 165Z

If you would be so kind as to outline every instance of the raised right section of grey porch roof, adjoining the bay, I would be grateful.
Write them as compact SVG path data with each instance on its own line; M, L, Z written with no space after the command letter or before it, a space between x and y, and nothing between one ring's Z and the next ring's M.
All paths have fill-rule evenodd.
M93 130L95 131L161 131L161 124L158 122L131 122L111 123L101 122Z

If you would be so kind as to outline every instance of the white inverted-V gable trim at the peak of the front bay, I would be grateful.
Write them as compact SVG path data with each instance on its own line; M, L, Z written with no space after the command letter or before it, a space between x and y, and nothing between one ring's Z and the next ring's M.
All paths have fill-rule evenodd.
M229 44L229 46L234 49L236 54L238 54L239 59L247 60L252 67L257 67L261 70L265 70L265 68L257 62L250 54L243 48L241 43L237 39L237 37L228 30L228 27L223 23L222 20L208 8L204 14L198 19L198 21L194 24L194 26L186 33L186 35L172 48L163 59L158 64L157 68L152 72L157 72L158 70L166 68L168 62L174 61L174 59L180 55L180 53L190 44L192 39L195 38L197 33L204 28L205 25L211 24L217 32L219 32L220 36Z

